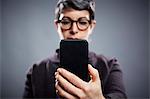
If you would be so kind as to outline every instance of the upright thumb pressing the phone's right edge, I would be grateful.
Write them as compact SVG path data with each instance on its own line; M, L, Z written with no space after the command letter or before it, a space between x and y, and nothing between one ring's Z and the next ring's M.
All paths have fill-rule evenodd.
M88 64L88 71L91 76L92 81L99 81L99 73L98 70Z

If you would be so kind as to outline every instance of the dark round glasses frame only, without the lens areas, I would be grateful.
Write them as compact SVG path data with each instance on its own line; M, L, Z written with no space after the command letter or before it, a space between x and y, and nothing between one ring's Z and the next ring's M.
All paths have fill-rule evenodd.
M61 20L58 20L57 22L58 22L58 23L61 23L64 18L68 18L68 19L71 21L71 25L70 25L70 27L69 27L68 29L64 29L64 28L61 27L61 28L64 29L64 30L70 30L70 29L72 28L74 22L76 23L76 26L78 27L78 29L79 29L80 31L85 31L85 30L87 30L88 27L89 27L90 24L91 24L91 19L88 20L86 17L80 17L80 18L78 18L78 20L72 20L70 17L63 17ZM79 22L79 20L80 20L81 18L86 18L87 21L88 21L88 23L89 23L89 25L88 25L87 28L85 28L85 29L81 29L81 28L78 26L78 22Z

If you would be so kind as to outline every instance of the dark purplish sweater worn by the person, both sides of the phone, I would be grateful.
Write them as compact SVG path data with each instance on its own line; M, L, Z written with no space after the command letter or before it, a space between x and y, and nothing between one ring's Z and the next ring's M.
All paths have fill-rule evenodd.
M122 71L115 58L89 52L89 63L98 70L102 92L108 99L126 98ZM57 98L54 73L59 66L59 50L53 57L33 64L29 69L23 98Z

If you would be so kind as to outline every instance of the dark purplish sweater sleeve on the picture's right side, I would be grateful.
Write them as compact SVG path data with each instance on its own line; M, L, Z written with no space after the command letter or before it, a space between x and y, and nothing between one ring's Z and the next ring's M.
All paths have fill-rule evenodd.
M108 60L108 76L105 82L104 91L106 99L126 99L126 92L123 83L123 73L115 58Z

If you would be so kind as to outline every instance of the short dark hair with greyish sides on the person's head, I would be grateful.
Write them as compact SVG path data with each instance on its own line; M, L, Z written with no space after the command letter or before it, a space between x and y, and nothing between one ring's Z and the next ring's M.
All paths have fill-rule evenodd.
M59 0L55 9L55 18L58 20L64 9L72 8L75 10L87 10L90 19L95 18L95 1L94 0Z

